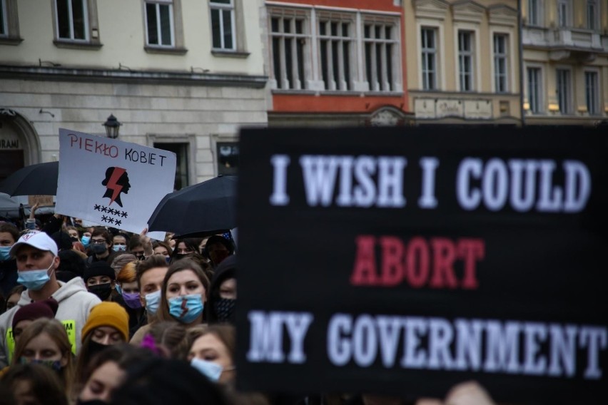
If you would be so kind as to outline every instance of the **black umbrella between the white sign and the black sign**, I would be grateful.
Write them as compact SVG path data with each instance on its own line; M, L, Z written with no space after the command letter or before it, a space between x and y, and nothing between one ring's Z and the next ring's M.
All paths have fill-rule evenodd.
M203 236L236 226L237 176L218 176L169 193L148 220L148 230Z

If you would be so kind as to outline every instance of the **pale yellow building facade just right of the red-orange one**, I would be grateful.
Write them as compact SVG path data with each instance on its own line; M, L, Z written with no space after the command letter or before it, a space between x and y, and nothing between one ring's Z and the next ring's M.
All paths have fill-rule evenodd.
M417 124L520 125L516 0L406 0L407 84Z

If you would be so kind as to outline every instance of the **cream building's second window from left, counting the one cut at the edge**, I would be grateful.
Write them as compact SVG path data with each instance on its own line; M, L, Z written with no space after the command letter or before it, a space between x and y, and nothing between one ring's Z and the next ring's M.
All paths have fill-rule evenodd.
M86 0L56 0L57 39L88 41Z

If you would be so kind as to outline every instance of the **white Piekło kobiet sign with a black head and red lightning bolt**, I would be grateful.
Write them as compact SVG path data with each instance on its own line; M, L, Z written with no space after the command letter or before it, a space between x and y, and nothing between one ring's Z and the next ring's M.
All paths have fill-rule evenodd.
M55 212L140 233L175 173L173 152L60 128Z

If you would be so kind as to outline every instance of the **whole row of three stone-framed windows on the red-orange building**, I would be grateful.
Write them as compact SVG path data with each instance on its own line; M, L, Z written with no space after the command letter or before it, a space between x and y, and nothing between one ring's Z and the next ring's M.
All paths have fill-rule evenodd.
M399 19L315 7L268 14L273 88L400 91Z

